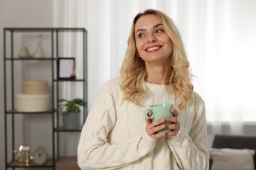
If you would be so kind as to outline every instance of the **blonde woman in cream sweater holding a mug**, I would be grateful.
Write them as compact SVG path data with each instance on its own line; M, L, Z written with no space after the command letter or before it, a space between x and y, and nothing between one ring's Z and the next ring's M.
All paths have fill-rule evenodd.
M174 103L174 116L145 119L144 107L160 103ZM121 76L100 88L77 160L81 169L208 169L204 101L193 91L179 31L162 12L133 20Z

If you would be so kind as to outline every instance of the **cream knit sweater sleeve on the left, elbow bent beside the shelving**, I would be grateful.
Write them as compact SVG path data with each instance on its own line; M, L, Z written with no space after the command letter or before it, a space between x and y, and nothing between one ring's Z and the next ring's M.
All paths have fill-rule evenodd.
M77 163L81 169L116 169L154 149L156 141L146 131L123 143L109 143L108 134L115 123L115 102L108 88L103 86L81 131L77 148Z

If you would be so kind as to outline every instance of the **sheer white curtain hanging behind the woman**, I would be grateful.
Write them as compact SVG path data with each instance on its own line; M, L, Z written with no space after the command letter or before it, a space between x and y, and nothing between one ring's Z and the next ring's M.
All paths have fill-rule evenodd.
M244 125L256 122L255 0L54 1L54 25L88 31L89 109L98 88L119 74L135 14L149 8L165 12L181 31L209 135L225 133L223 124L226 133L245 133Z

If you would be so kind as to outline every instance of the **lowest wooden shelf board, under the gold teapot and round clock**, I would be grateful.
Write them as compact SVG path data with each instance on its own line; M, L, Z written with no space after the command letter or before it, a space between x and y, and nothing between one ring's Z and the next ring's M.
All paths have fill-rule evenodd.
M8 163L8 167L53 167L53 160L47 160L42 165L37 165L33 163L33 161L30 161L30 163L21 164L18 160L13 160Z

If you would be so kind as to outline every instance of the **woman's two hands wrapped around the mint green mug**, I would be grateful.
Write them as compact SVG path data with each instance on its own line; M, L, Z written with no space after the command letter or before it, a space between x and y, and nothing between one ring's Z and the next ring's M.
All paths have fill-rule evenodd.
M173 117L168 116L155 121L146 118L146 133L148 133L152 139L158 139L164 136L175 136L179 133L181 128L179 120L177 119L179 112L175 109L171 109L170 111ZM152 112L148 112L148 114L152 114ZM172 122L172 124L163 124L164 122ZM171 132L157 133L162 129L171 129Z

